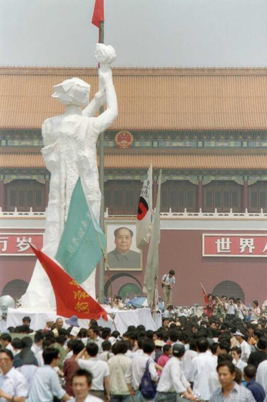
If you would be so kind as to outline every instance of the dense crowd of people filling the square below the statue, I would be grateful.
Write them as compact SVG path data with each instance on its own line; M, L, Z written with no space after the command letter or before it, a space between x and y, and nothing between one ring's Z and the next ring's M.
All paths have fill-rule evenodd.
M68 327L67 327L68 326ZM16 335L16 333L18 335ZM76 316L0 335L0 401L266 402L267 318L257 300L208 295L199 317L168 306L156 331Z

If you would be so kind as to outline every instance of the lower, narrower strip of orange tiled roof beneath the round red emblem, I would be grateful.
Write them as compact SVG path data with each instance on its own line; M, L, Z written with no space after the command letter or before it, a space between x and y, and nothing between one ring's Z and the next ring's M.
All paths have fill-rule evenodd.
M105 168L153 168L175 170L267 170L267 152L258 153L131 153L116 152L105 154ZM45 168L43 157L37 152L0 153L1 168Z

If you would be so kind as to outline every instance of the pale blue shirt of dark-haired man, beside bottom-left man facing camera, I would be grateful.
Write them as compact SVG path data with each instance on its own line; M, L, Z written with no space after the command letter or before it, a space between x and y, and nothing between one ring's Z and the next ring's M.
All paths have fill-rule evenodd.
M49 364L45 364L35 371L27 402L48 402L53 400L53 396L61 400L65 393L58 374Z

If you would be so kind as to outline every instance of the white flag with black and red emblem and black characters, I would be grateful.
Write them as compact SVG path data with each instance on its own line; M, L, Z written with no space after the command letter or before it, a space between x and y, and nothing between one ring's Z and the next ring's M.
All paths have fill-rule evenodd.
M152 164L148 169L138 203L136 246L142 249L149 243L152 232Z

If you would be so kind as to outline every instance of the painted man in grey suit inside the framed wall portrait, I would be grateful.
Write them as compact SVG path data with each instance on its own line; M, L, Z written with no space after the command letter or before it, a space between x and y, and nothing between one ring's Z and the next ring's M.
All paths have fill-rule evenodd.
M134 233L128 228L114 231L115 249L107 253L110 269L140 269L140 253L130 250Z

